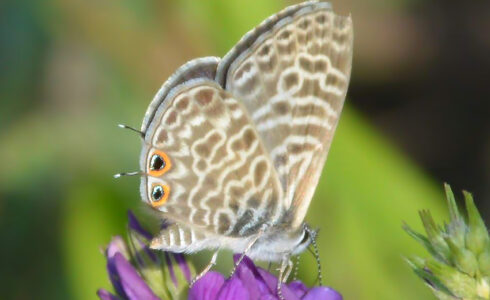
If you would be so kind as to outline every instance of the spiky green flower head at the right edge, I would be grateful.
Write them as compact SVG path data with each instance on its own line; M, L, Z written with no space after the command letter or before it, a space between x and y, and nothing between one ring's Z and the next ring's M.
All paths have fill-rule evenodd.
M407 261L439 299L490 299L490 243L485 223L471 194L463 192L468 213L465 221L451 188L445 188L449 224L437 226L430 212L421 211L427 236L404 226L432 257L412 257Z

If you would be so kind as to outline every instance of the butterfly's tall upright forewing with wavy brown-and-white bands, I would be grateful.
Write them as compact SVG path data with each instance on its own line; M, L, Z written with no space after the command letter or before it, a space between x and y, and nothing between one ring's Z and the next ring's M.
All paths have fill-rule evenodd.
M283 201L293 208L293 226L304 219L332 141L349 83L352 40L350 17L311 2L218 66L217 78L227 71L226 90L243 100L264 141Z

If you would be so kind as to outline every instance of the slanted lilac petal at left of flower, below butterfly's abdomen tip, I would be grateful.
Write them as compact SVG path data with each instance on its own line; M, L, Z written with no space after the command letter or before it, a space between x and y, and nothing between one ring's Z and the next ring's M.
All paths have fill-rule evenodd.
M158 299L133 266L120 253L114 255L114 266L126 297L130 300Z

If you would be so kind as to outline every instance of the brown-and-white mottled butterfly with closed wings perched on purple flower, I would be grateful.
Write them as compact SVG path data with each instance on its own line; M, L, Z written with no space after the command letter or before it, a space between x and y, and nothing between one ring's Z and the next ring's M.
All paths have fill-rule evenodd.
M305 2L223 59L192 60L165 82L141 126L141 197L170 224L152 248L226 248L284 269L311 243L304 218L347 92L352 41L350 17Z

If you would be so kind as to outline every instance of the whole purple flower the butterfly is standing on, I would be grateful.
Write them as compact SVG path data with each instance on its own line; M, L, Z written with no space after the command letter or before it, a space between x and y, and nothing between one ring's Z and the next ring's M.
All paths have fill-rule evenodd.
M148 247L151 234L129 213L129 243L114 237L106 249L107 271L114 294L100 289L102 300L183 299L189 300L276 300L277 277L255 266L245 257L234 275L226 279L218 272L208 272L191 288L195 275L181 254L153 251ZM129 247L128 247L129 246ZM235 255L235 263L240 256ZM286 300L342 300L329 287L307 288L300 281L281 285Z

